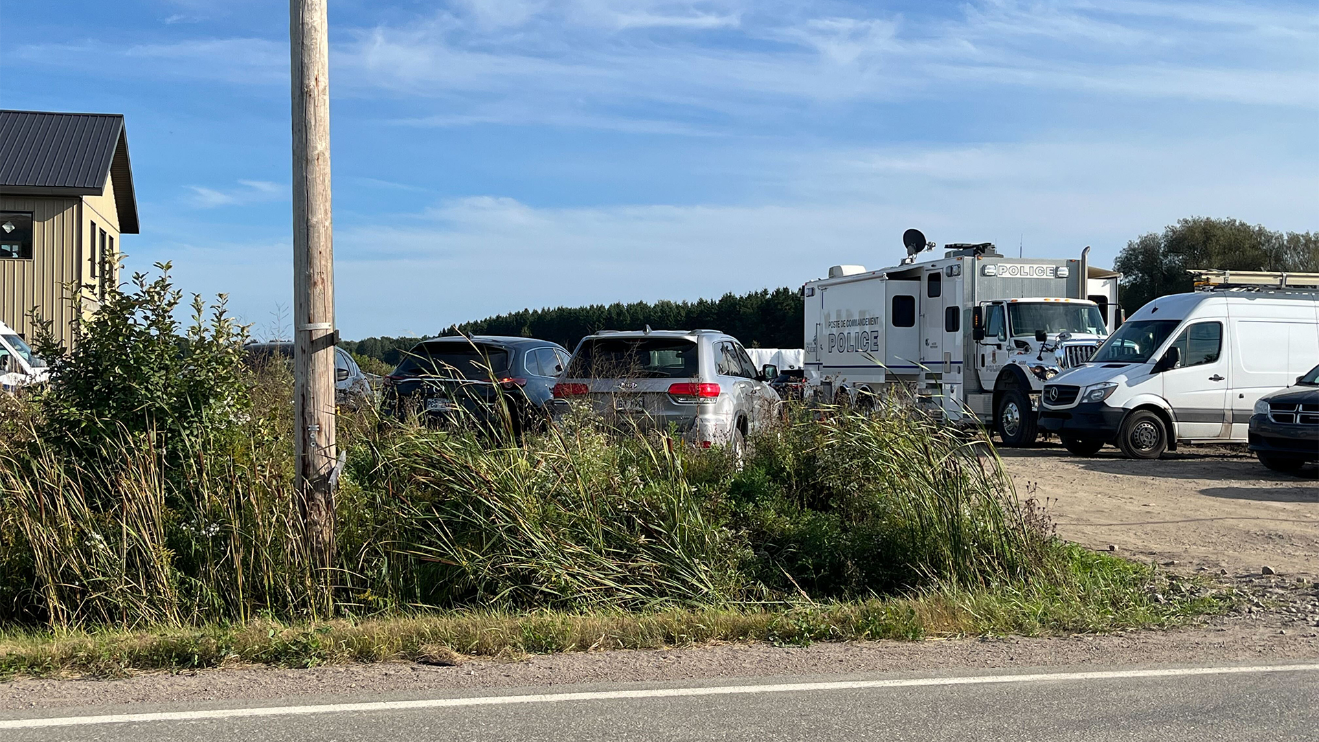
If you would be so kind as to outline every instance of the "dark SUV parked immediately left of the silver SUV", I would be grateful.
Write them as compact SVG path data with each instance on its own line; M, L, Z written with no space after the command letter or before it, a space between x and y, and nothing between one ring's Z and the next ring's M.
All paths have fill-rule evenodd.
M417 343L384 383L386 416L427 422L476 422L514 432L549 417L554 379L568 351L549 341L452 335Z

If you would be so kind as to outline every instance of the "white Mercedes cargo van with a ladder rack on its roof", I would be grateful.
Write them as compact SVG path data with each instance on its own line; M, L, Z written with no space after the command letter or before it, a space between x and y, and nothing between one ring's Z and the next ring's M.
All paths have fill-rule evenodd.
M1319 363L1319 290L1266 276L1279 285L1220 280L1150 301L1088 363L1045 384L1039 426L1079 455L1246 442L1256 401Z

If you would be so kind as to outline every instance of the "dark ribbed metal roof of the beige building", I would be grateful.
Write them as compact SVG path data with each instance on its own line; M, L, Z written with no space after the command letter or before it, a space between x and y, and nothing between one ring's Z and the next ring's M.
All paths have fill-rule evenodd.
M111 173L119 231L137 234L123 115L0 110L0 191L99 195Z

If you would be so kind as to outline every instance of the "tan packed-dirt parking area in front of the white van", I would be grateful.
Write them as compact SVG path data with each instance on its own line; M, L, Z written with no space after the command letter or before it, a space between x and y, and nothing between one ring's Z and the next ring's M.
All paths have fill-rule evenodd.
M1319 475L1270 471L1242 448L1183 448L1158 461L1117 449L1000 450L1020 496L1049 500L1058 535L1178 570L1319 576Z

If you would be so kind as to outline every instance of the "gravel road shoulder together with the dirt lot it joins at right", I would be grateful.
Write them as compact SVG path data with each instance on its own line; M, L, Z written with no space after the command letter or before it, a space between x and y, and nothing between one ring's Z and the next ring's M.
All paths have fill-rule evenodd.
M1107 452L1107 449L1105 449ZM1115 667L1319 659L1319 481L1283 477L1244 450L1202 448L1161 461L1058 446L1004 450L1020 494L1047 500L1058 535L1198 573L1246 598L1239 610L1170 631L927 642L727 644L471 660L272 669L233 667L120 680L0 683L0 710L135 702L330 702L361 693L434 694L497 688L783 677L867 671ZM1261 574L1269 565L1277 574Z

